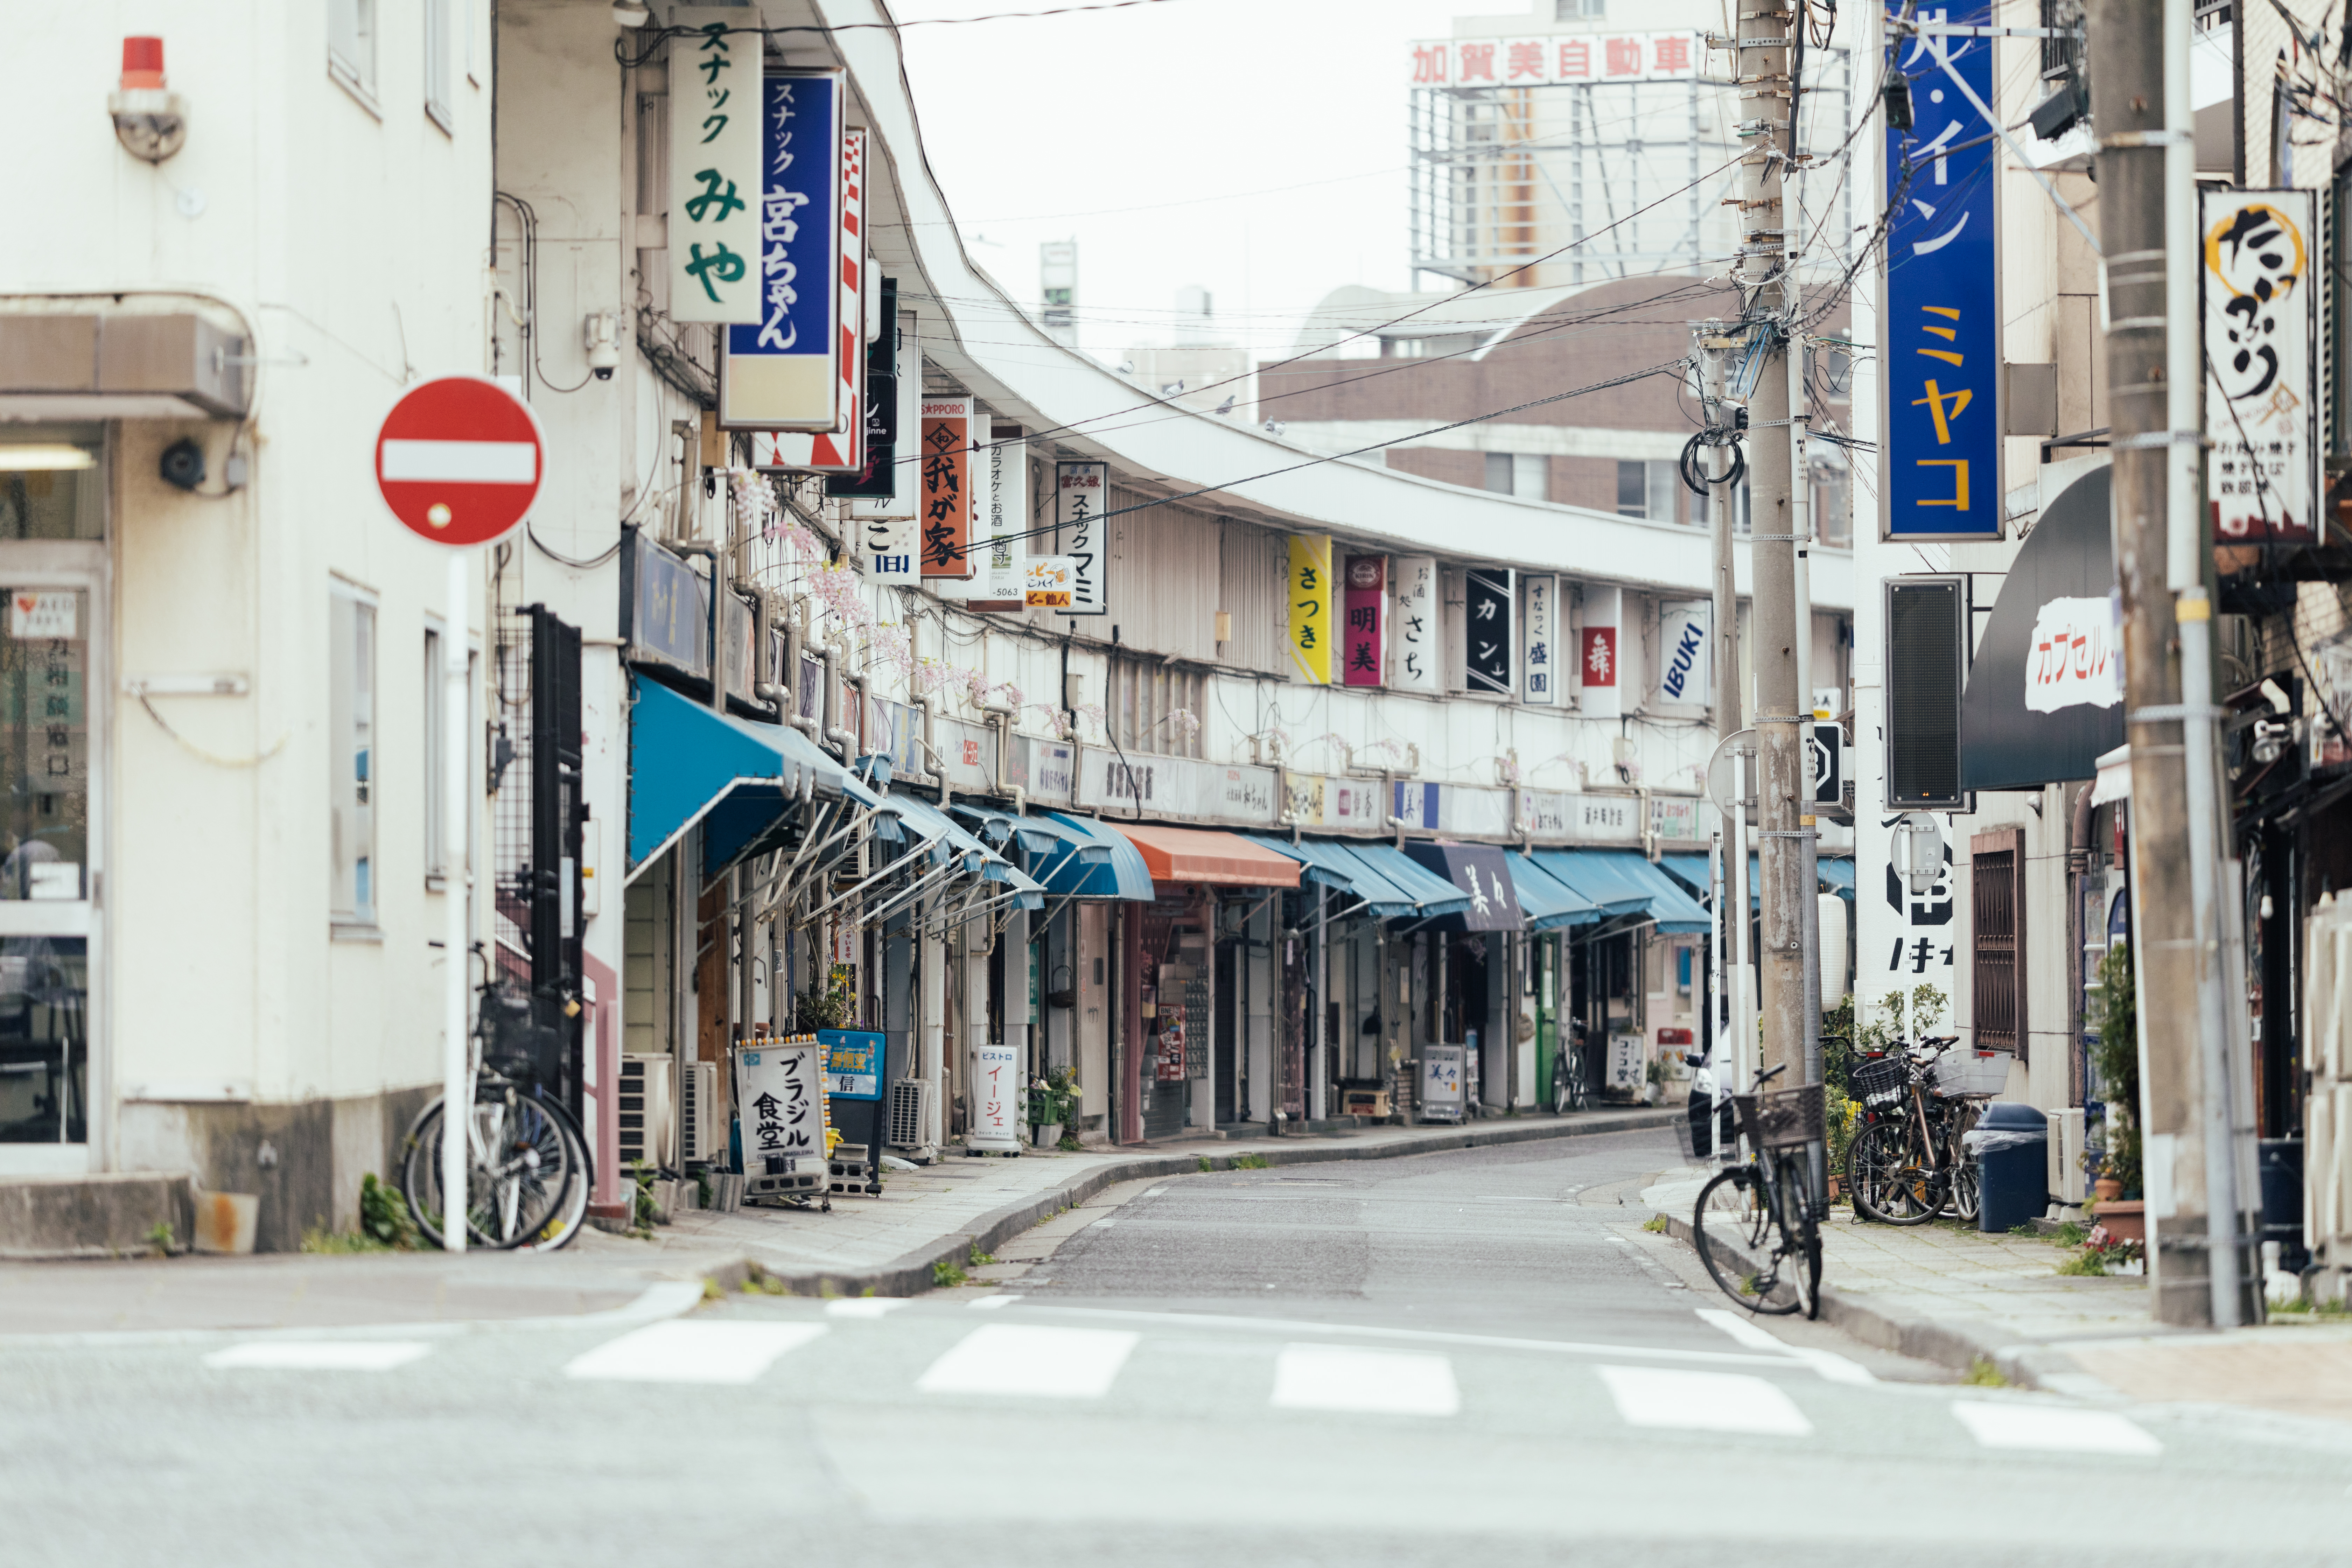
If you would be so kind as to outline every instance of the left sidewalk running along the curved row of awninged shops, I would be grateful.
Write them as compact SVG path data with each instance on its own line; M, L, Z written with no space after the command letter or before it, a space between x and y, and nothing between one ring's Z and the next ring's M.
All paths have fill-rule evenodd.
M816 1295L917 1295L934 1265L969 1267L1004 1253L1040 1220L1115 1182L1232 1168L1395 1159L1435 1150L1670 1128L1682 1110L1599 1110L1503 1117L1465 1126L1381 1126L1289 1138L1228 1138L1141 1150L1030 1150L1018 1159L948 1159L891 1171L880 1197L837 1197L833 1213L680 1211L652 1241L583 1229L560 1253L270 1253L263 1258L139 1258L0 1265L0 1340L82 1333L219 1333L353 1328L367 1324L485 1324L680 1312L701 1281L739 1286L750 1272ZM1018 1251L1018 1248L1014 1248ZM983 1274L985 1276L985 1274ZM677 1286L691 1291L680 1295Z

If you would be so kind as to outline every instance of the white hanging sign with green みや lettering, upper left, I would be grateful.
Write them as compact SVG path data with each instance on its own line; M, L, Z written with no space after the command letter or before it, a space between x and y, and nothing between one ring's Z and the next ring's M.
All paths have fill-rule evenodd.
M757 19L696 5L670 26L670 320L757 322L760 54Z

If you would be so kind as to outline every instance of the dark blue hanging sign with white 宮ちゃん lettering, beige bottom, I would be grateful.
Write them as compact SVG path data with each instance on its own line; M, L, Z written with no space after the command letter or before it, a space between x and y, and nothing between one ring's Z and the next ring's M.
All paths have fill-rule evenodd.
M760 190L760 320L729 327L720 355L720 428L840 433L826 444L828 468L849 468L849 449L866 440L858 430L863 411L844 407L863 376L858 343L866 306L851 284L861 277L866 237L844 228L842 155L842 73L771 73ZM670 249L677 249L675 235ZM809 468L818 454L814 442L795 440L769 456L779 465Z

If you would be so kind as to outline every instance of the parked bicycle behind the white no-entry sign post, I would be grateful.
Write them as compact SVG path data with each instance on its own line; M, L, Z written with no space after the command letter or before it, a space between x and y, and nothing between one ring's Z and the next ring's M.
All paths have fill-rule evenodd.
M480 987L470 1039L473 1114L466 1119L466 1234L470 1246L553 1251L579 1234L593 1182L588 1140L548 1088L562 1032L536 1023L532 997L501 980ZM442 1246L445 1103L426 1105L402 1143L409 1215Z

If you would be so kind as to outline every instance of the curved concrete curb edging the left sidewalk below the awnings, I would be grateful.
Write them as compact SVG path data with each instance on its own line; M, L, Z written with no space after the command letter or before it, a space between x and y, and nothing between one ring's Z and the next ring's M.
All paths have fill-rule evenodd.
M1446 1128L1428 1138L1397 1138L1376 1145L1331 1145L1301 1138L1291 1145L1242 1147L1190 1145L1183 1154L1136 1154L1115 1164L1094 1166L1084 1175L1073 1175L1037 1197L990 1211L955 1232L901 1258L870 1269L823 1269L776 1265L743 1253L717 1267L701 1269L703 1279L722 1291L741 1291L746 1279L781 1281L790 1295L922 1295L931 1286L931 1269L941 1262L962 1267L971 1260L971 1248L997 1251L1004 1241L1023 1234L1033 1225L1054 1218L1065 1208L1077 1208L1112 1182L1148 1180L1155 1175L1197 1175L1202 1171L1235 1171L1244 1159L1263 1159L1265 1166L1308 1166L1343 1159L1399 1159L1404 1154L1435 1154L1442 1150L1479 1150L1510 1143L1536 1143L1543 1138L1578 1138L1590 1133L1639 1133L1668 1128L1682 1121L1684 1112L1630 1110L1613 1114L1585 1114L1564 1121L1501 1121L1496 1126ZM1211 1154L1209 1150L1221 1150ZM1256 1168L1256 1166L1249 1166Z

